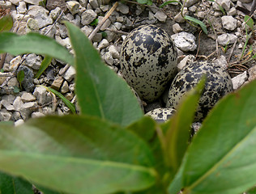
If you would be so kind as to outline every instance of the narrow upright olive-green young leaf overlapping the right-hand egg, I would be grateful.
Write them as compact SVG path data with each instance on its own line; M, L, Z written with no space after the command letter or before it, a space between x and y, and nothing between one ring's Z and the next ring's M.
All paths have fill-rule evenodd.
M194 120L194 113L198 107L198 100L201 97L206 77L202 78L193 90L186 93L177 108L177 112L171 117L169 129L162 141L164 146L164 157L169 167L176 173L181 165L181 160L189 145L191 124Z

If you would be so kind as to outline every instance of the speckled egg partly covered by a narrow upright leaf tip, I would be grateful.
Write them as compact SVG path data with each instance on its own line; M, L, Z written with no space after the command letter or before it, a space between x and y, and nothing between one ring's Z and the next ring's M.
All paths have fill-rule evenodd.
M220 65L211 61L195 61L186 65L173 79L166 107L177 108L181 97L199 82L203 74L207 75L207 82L198 102L195 120L202 121L219 99L233 91L231 78Z

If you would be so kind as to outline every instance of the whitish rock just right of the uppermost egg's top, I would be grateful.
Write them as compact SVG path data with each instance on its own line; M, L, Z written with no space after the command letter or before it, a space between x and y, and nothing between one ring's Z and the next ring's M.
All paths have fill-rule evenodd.
M195 44L195 36L188 32L180 32L171 36L177 48L184 52L194 51L197 45Z

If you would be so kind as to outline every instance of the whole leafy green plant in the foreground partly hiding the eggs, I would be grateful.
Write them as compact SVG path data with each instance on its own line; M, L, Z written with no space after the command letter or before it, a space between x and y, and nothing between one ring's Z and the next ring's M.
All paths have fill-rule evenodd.
M33 52L75 65L81 109L80 115L45 116L18 127L0 123L0 193L31 193L32 183L45 194L175 194L182 188L240 194L254 187L256 81L221 99L189 145L204 81L188 92L176 115L157 124L143 116L126 82L100 60L83 32L66 27L75 57L36 33L0 34L2 53Z

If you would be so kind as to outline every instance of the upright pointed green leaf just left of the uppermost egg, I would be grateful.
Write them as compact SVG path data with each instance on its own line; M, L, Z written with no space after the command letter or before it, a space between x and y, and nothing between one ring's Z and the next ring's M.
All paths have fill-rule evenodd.
M76 95L83 115L126 126L143 116L139 103L126 82L103 63L87 36L66 23L75 50Z

